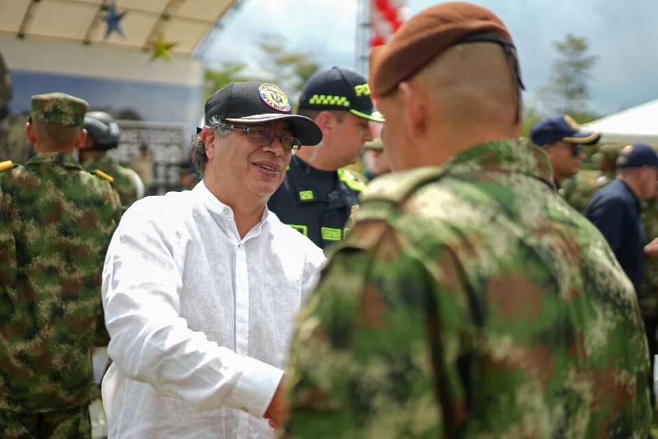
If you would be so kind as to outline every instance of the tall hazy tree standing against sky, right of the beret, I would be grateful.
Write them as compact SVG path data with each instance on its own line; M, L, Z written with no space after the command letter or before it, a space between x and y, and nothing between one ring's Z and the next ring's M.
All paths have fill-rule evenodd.
M550 111L568 113L581 123L595 118L587 108L587 80L598 56L589 54L587 38L572 34L553 42L553 46L559 58L553 62L548 84L539 89L537 97Z

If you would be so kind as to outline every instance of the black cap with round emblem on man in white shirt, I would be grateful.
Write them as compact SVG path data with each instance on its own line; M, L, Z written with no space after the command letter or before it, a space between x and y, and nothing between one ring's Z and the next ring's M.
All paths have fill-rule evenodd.
M315 122L292 115L287 95L273 84L231 82L220 88L206 101L205 123L213 117L244 126L287 121L302 145L317 145L322 140L322 131Z

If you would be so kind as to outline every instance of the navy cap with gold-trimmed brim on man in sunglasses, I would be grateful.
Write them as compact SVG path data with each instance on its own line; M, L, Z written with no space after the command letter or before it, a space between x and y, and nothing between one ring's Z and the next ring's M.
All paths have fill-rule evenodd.
M592 145L598 142L598 132L581 131L581 127L570 115L552 115L544 117L530 131L530 138L538 146L553 142L581 143Z

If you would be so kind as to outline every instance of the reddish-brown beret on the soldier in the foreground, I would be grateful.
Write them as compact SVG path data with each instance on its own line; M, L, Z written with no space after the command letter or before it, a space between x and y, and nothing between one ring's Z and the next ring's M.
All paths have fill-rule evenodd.
M384 96L448 47L473 34L512 39L493 12L471 3L441 3L423 10L389 42L370 53L370 91Z

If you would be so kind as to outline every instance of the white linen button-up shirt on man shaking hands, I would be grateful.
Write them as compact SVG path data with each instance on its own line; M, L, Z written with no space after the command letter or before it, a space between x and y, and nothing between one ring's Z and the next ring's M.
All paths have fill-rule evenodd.
M203 182L135 202L103 269L110 438L273 437L263 414L324 261L267 208L240 239Z

